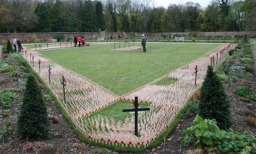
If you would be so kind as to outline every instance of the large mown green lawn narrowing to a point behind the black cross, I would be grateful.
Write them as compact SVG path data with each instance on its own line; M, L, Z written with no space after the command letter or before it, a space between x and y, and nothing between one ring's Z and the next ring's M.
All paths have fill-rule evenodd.
M141 46L139 43L135 45ZM114 48L112 44L40 53L115 94L123 95L186 65L219 45L148 43L147 52L143 53L140 50L114 51L111 50Z

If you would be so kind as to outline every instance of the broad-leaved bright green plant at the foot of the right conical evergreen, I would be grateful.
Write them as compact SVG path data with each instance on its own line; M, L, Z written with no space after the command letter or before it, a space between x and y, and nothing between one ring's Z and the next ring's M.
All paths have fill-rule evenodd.
M197 148L217 146L217 141L224 137L224 131L220 130L216 124L215 119L203 119L200 115L196 115L192 126L182 133L185 137L182 143L192 142Z

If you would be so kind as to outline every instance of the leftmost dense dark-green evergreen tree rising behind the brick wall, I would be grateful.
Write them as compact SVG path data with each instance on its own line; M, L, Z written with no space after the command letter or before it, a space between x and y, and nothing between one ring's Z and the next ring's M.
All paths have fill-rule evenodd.
M51 19L47 5L45 3L39 3L36 6L35 14L38 16L38 25L36 31L51 32Z

